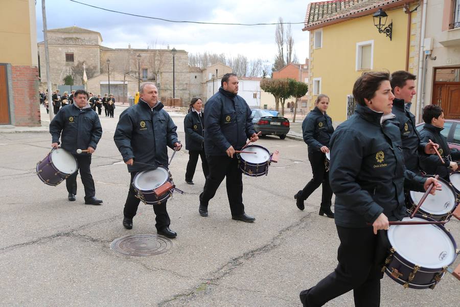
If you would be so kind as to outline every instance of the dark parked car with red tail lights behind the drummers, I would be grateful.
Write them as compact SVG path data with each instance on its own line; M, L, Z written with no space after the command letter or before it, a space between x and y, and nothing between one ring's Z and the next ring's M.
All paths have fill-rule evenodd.
M289 120L285 117L274 116L262 109L253 109L251 117L254 129L257 132L261 131L262 136L275 135L284 140L289 132Z

